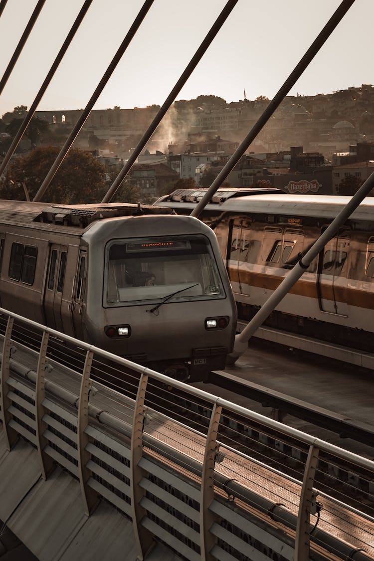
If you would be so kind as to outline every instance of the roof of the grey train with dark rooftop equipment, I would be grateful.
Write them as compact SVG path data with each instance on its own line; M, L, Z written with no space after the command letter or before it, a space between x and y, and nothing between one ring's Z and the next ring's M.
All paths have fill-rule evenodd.
M138 216L142 214L173 214L161 206L106 203L89 205L59 205L26 201L0 200L0 223L18 226L48 227L51 225L72 233L82 232L96 220Z

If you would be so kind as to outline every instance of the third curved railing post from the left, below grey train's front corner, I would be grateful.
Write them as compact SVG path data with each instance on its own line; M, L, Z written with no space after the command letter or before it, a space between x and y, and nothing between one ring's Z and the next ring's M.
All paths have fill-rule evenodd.
M82 372L82 381L79 394L78 406L78 426L77 426L77 444L78 444L78 469L79 481L81 486L83 508L87 516L95 508L99 501L99 495L87 485L88 480L92 476L91 470L87 469L87 462L90 459L90 453L86 447L89 443L89 437L85 433L88 425L88 403L90 394L90 374L94 353L90 349L86 353L86 360Z

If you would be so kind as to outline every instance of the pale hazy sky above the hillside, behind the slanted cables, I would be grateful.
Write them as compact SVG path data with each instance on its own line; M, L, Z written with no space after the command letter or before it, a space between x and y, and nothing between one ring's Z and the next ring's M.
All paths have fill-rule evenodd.
M94 0L38 109L84 108L141 1ZM155 0L96 109L162 104L225 5ZM83 0L47 0L0 96L0 116L33 102ZM239 0L177 99L270 99L333 14L338 0ZM0 17L0 77L36 5L8 0ZM290 94L374 84L374 0L355 0Z

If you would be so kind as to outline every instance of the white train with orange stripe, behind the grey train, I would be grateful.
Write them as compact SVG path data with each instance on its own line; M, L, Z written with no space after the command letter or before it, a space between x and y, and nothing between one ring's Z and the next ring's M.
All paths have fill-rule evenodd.
M156 204L189 214L204 190ZM249 320L349 197L221 189L201 215L216 233L238 318ZM374 198L367 197L265 322L274 328L373 350Z

